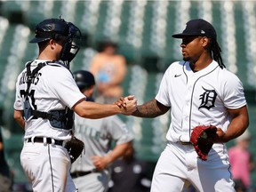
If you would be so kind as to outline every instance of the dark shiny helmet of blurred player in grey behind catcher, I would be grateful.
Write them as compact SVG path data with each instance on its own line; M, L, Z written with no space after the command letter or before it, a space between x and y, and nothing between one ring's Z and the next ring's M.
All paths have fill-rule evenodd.
M79 89L88 88L95 84L94 76L91 72L86 70L78 70L74 73L74 78Z

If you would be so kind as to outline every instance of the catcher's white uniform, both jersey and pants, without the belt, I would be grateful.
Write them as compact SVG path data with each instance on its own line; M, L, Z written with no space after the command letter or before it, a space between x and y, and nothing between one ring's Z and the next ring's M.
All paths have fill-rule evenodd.
M31 71L40 62L31 63ZM24 97L27 90L27 68L18 76L14 108L24 110ZM85 99L73 79L72 74L60 63L48 63L32 79L29 89L31 108L41 112L72 108L78 100ZM32 116L33 117L33 116ZM68 151L61 145L46 144L50 140L69 140L71 133L52 127L48 119L28 118L25 123L25 142L20 153L20 163L34 191L74 192L76 187L70 176ZM34 138L44 138L44 143L34 142ZM31 140L27 140L31 138Z

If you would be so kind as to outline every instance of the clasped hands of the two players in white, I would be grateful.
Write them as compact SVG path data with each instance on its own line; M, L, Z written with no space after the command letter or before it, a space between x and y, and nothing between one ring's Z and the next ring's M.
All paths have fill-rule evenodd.
M125 116L131 116L137 110L137 99L133 95L121 97L114 104L121 109L122 114Z

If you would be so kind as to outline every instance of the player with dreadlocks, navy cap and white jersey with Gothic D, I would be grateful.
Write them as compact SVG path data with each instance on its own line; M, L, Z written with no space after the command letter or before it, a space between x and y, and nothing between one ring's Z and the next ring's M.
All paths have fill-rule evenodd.
M200 192L235 191L226 143L249 125L243 84L225 68L216 31L206 20L189 20L183 32L172 37L182 40L183 61L166 69L156 98L132 114L156 117L172 109L151 192L178 192L189 184ZM218 128L207 161L198 158L189 142L198 124Z

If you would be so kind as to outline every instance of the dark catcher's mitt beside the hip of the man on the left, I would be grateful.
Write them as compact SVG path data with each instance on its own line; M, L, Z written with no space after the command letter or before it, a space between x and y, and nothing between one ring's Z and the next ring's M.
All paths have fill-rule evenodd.
M67 148L71 164L73 164L78 156L82 154L84 150L84 142L73 136L72 139L66 143L65 148Z

